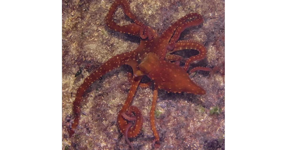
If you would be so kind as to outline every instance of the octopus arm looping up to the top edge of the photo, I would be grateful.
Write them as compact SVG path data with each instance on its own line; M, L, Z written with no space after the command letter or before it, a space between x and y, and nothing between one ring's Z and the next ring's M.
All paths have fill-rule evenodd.
M131 23L129 25L117 25L115 21L113 21L113 17L115 14L115 11L118 6L122 6L124 13L131 18L135 23ZM148 37L149 40L152 39L152 37L155 35L155 31L151 29L150 27L144 25L141 23L135 15L131 12L131 9L129 7L129 3L126 0L116 0L112 6L110 7L110 10L108 14L106 15L106 24L110 29L113 29L115 31L119 31L121 33L127 33L131 35L136 35L141 37L142 39L145 39Z

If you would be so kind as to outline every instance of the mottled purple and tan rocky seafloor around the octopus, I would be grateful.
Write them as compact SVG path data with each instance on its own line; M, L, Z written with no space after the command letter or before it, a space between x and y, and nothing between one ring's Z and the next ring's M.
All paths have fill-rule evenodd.
M117 114L127 97L129 67L123 65L95 81L84 95L82 116L75 135L69 138L72 106L77 88L85 77L109 58L137 48L139 38L112 31L105 16L114 0L62 1L62 149L130 149L117 127ZM224 149L224 1L222 0L130 0L131 11L160 35L177 19L192 12L203 16L198 27L186 29L180 39L203 43L207 57L192 67L211 67L212 73L197 71L191 79L205 95L167 93L159 90L156 129L160 149ZM131 20L119 8L115 21ZM184 57L195 50L182 50ZM75 77L81 68L82 73ZM149 111L152 87L138 88L132 105L143 114L143 128L131 138L135 149L153 149Z

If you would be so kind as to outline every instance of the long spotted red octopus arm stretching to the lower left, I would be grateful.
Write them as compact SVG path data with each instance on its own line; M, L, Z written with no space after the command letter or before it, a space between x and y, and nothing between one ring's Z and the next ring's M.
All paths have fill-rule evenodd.
M132 56L129 52L116 55L101 65L96 71L86 77L86 79L84 79L84 83L77 89L75 101L73 102L73 112L75 114L75 119L72 123L71 129L69 130L70 137L75 133L75 129L79 124L79 119L81 117L80 104L82 103L84 92L94 81L102 77L102 75L106 74L108 71L111 71L116 67L125 64L127 61L129 61L130 57Z

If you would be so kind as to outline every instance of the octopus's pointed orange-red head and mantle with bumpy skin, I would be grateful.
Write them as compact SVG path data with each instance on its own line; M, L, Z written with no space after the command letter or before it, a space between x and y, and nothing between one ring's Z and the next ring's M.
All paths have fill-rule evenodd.
M204 89L196 85L186 71L174 63L160 60L155 53L148 53L139 68L159 89L173 93L205 94Z

